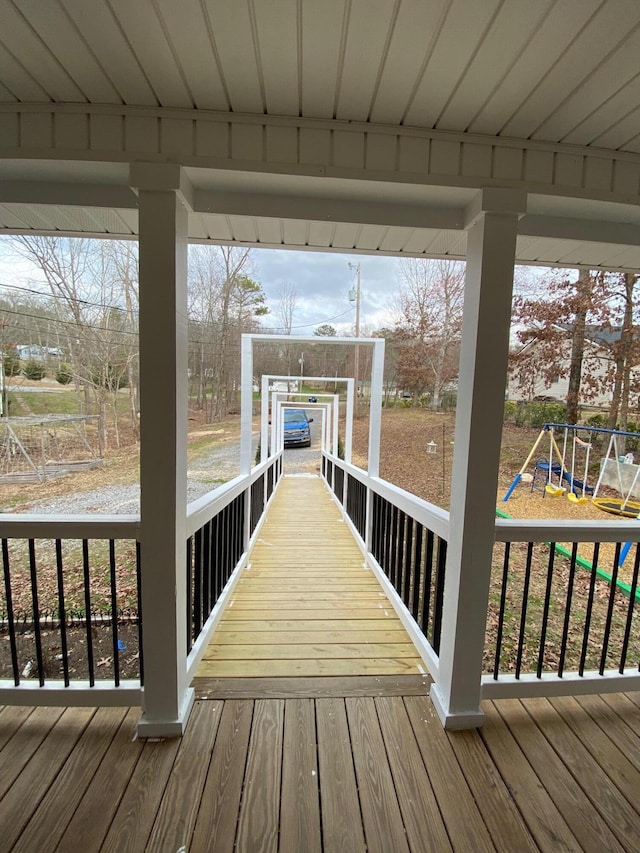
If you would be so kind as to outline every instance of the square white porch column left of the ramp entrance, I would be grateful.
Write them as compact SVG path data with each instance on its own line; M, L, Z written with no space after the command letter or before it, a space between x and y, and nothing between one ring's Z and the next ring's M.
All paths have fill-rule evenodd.
M187 208L177 165L136 163L140 217L141 737L181 735L187 683Z

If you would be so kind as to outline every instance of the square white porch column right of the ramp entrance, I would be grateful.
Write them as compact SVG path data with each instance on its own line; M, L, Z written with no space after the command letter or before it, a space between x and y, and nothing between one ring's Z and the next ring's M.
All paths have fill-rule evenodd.
M478 193L468 215L467 270L450 533L440 641L431 697L446 728L482 723L480 680L491 578L504 416L518 190Z

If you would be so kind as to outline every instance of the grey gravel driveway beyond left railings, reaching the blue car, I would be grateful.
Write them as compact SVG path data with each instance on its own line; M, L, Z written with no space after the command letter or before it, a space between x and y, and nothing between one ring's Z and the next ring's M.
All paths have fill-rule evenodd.
M258 433L252 438L252 459L258 446ZM311 424L311 447L294 447L284 452L285 474L315 473L320 467L320 423ZM229 442L192 461L187 470L187 501L206 495L240 473L240 443ZM73 475L71 475L71 478ZM70 486L72 479L69 479ZM103 486L89 492L73 492L36 501L28 512L43 514L84 513L134 514L140 512L140 487L134 485Z

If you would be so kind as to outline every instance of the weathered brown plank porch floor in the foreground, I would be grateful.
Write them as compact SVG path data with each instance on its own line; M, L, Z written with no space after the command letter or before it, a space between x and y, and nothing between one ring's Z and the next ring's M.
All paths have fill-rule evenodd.
M0 849L637 851L640 696L198 701L181 740L136 710L0 709Z

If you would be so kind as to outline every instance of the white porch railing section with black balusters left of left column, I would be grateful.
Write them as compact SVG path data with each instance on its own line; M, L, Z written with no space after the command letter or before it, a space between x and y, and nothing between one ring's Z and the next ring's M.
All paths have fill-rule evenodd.
M13 677L0 680L0 703L21 705L139 705L143 682L137 516L0 515L0 609ZM51 541L53 540L53 541ZM119 640L124 583L118 563L133 562L137 678L120 677ZM97 574L105 598L95 590ZM18 596L20 595L20 603ZM46 599L45 599L46 596ZM75 596L75 597L74 597ZM25 602L28 600L28 603ZM45 604L46 601L46 604ZM73 602L73 603L72 603ZM68 621L76 626L72 640ZM96 659L97 626L110 634L109 665ZM56 632L60 652L45 646ZM72 648L70 648L72 646ZM74 667L88 678L74 679ZM55 674L52 675L52 670ZM62 677L60 677L62 674Z

